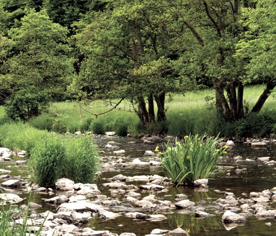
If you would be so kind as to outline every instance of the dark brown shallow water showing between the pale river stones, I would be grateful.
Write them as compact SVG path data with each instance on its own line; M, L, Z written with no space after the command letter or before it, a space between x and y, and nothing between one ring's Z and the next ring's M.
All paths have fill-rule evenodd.
M108 141L118 142L120 149L126 150L125 157L129 157L129 160L134 158L140 158L141 160L146 160L147 157L144 157L143 154L146 150L154 151L155 146L161 146L161 143L156 143L156 145L145 145L142 140L139 139L130 139L130 138L96 138L96 142L99 145L100 150L104 150L104 145ZM128 144L129 141L136 141L135 144ZM106 150L104 150L106 151ZM113 156L113 150L106 151L105 156ZM186 194L190 201L196 202L196 204L202 204L208 213L213 213L215 208L215 201L218 198L223 198L223 193L216 193L214 190L233 192L236 197L242 197L248 199L250 192L261 192L266 189L271 189L276 187L276 167L275 166L265 166L262 162L255 163L239 163L237 164L233 157L242 156L245 160L246 158L257 160L258 157L271 157L271 160L276 160L276 145L271 145L268 147L251 147L246 145L236 145L233 148L229 148L230 152L229 157L221 163L223 166L234 167L228 172L225 172L219 176L215 176L213 179L209 180L209 188L207 192L196 192L197 189L188 188L188 187L179 187L170 188L170 191L166 194L161 193L156 196L162 200L169 200L175 202L174 196L176 194ZM0 169L9 169L11 170L10 175L18 176L21 175L24 177L24 180L27 179L28 172L25 167L18 167L14 164L18 158L14 157L13 162L0 163ZM8 167L7 166L11 166ZM235 169L246 168L245 173L236 174ZM108 188L101 186L101 183L106 182L105 178L113 177L117 174L123 174L126 176L134 175L150 175L150 174L159 174L162 173L157 168L152 167L136 167L136 168L120 168L113 171L103 172L102 179L98 180L98 187L102 194L110 197L110 192ZM2 173L3 174L3 173ZM142 182L127 182L127 184L137 184L141 185ZM28 198L29 194L23 192L24 189L13 189L3 191L9 191L11 193L16 193L25 198ZM243 197L242 193L246 193L247 197ZM149 193L141 193L142 197L148 196ZM41 195L33 193L31 196L31 201L42 204L43 207L37 209L37 212L42 212L45 210L55 211L55 206L44 204L43 199L48 199L53 196ZM140 209L131 206L129 203L126 203L122 199L123 196L118 197L118 200L121 201L117 206L110 207L110 210L113 212L118 212L122 216L111 219L108 221L102 221L100 219L91 219L88 224L84 225L94 228L95 230L109 230L112 233L121 234L124 232L135 233L137 236L144 236L150 234L153 229L159 228L164 230L173 230L177 227L190 232L191 236L274 236L276 232L276 221L274 219L263 219L258 220L255 216L247 218L247 222L244 225L237 226L233 229L228 229L229 225L224 226L221 222L221 216L223 213L215 214L214 217L207 217L204 219L194 218L191 212L185 212L181 210L174 210L173 214L162 213L167 216L167 220L150 222L150 221L136 221L133 218L128 218L123 216L124 213L129 211L140 211ZM272 209L276 208L276 204L270 204ZM152 214L153 212L147 212ZM272 226L267 226L265 223L271 222ZM225 228L226 227L226 228Z

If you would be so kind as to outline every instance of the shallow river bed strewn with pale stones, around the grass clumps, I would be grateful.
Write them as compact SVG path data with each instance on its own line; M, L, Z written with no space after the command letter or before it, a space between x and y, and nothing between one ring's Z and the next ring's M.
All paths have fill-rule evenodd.
M31 204L30 232L46 217L41 232L45 236L222 235L226 230L227 235L248 235L249 229L251 235L274 235L274 140L233 146L221 163L225 172L208 183L199 181L196 188L175 188L160 172L153 152L164 140L160 137L96 140L103 163L99 181L60 179L57 190L28 180L23 151L0 148L2 201L22 203L31 190L39 199Z

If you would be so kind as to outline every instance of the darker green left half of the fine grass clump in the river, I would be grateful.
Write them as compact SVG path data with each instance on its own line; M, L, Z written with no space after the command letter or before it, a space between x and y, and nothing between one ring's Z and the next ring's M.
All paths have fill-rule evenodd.
M62 139L52 135L37 142L31 150L30 172L36 184L45 188L54 188L61 176L61 167L65 155Z

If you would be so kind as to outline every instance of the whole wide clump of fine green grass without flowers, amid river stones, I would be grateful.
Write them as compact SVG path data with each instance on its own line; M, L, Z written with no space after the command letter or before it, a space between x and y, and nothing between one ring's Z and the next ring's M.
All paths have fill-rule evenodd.
M45 188L55 188L61 177L92 183L100 167L96 145L89 136L46 137L31 150L28 164L32 179Z

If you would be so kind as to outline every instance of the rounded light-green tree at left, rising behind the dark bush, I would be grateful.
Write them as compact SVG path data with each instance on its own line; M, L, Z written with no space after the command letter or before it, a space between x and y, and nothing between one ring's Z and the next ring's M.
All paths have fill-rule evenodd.
M61 99L73 74L73 60L68 56L68 30L53 23L44 10L36 12L30 9L21 24L21 27L9 31L13 40L13 55L8 59L8 73L1 77L3 87L11 94L9 99L18 99L24 93L26 97L29 94L33 98L24 101L29 103L34 102L35 93ZM14 102L8 101L6 104ZM32 115L27 117L19 113L20 110L20 118L29 119L40 111L32 111L29 113Z

